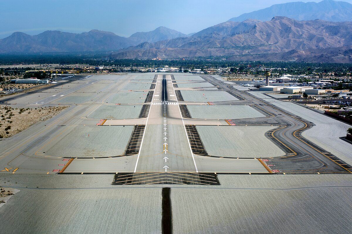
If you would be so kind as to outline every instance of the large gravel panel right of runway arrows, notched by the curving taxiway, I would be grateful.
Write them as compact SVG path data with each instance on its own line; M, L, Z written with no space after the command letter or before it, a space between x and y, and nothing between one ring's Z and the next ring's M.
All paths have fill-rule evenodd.
M209 155L264 158L285 153L265 137L271 126L196 126Z

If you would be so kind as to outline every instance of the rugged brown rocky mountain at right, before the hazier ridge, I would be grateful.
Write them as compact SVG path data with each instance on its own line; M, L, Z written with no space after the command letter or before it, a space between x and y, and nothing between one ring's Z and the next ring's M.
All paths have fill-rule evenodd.
M228 56L231 59L294 60L289 51L311 51L352 45L352 22L298 21L276 16L270 21L227 21L186 38L144 42L113 52L112 58L183 58ZM281 54L279 56L278 54ZM275 56L273 56L275 55ZM304 53L301 54L301 58Z

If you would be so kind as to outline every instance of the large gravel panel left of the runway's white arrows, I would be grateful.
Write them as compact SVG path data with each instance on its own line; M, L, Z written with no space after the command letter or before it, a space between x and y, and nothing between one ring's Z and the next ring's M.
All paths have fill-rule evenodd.
M46 154L83 158L122 155L132 131L133 126L77 126Z

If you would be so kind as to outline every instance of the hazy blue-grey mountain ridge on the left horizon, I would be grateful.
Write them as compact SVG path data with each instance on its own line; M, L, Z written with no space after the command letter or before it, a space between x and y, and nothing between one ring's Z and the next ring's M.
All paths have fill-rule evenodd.
M15 32L7 38L0 39L0 53L114 51L144 41L156 42L178 36L187 35L165 27L135 33L129 38L96 29L83 33L45 31L33 36Z

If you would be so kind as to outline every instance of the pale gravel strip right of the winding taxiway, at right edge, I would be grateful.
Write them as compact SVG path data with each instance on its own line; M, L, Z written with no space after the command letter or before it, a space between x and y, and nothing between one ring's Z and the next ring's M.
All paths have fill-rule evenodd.
M352 164L352 145L339 139L346 136L346 131L351 125L298 106L295 103L281 101L273 104L313 122L315 126L304 131L302 135L348 164Z

